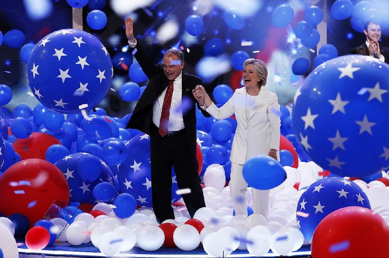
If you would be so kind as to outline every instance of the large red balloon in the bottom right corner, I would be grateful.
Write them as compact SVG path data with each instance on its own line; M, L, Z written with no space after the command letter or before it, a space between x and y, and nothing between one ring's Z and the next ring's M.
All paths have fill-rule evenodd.
M388 257L389 226L374 211L357 206L335 210L313 234L314 258Z

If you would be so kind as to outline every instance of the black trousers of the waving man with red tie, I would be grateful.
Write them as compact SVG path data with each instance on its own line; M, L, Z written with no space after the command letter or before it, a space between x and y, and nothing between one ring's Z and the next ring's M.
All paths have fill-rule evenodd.
M176 172L178 189L190 188L190 194L183 194L185 205L191 217L196 210L205 207L198 163L189 151L185 129L175 135L161 137L153 125L150 133L151 148L151 193L154 213L160 223L174 219L172 204L172 166Z

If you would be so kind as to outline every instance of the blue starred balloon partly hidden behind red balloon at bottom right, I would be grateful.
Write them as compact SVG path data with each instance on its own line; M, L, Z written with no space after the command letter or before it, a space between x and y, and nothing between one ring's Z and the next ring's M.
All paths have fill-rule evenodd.
M371 209L368 196L353 181L326 177L310 185L297 204L296 219L308 241L325 216L340 208L360 206Z

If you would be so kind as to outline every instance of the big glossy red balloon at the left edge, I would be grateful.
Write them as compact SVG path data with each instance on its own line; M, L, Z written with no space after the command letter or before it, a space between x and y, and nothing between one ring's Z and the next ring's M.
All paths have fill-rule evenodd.
M54 201L69 203L69 197L66 178L49 161L19 161L0 177L0 212L23 214L30 226L43 218Z

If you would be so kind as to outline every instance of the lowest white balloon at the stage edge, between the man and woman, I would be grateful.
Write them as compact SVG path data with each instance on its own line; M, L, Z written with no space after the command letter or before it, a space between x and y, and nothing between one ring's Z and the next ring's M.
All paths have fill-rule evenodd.
M204 251L214 257L226 257L232 253L232 242L219 232L212 232L204 238Z

